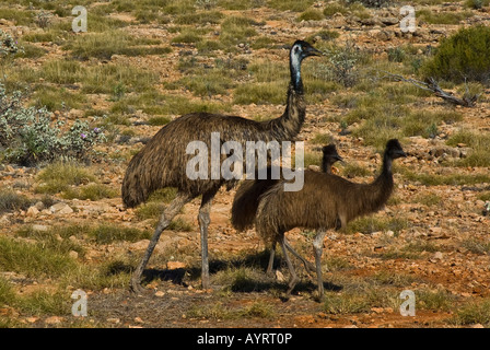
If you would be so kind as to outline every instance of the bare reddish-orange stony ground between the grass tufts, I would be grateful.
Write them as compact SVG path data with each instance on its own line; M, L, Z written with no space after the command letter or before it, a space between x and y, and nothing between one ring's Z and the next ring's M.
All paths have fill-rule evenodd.
M320 10L324 5L323 1L315 4ZM447 11L453 8L454 11L463 11L462 4L454 2L427 8L433 11ZM295 21L298 13L269 8L222 12L226 15L240 12L264 21L265 24L258 28L260 33L280 43L292 43L296 38L328 28L340 34L336 43L341 44L350 39L360 49L383 57L390 47L407 43L421 48L428 45L436 46L443 37L463 25L488 23L490 14L485 10L475 11L474 16L457 25L421 23L413 34L400 32L398 21L401 16L398 7L370 9L372 15L369 20L338 14L322 21L303 22ZM128 22L133 21L129 14L114 15ZM3 27L10 28L11 24L4 22ZM176 35L165 26L153 24L133 24L126 30L138 36L158 37L168 43ZM67 55L56 45L39 45L46 48L48 54L37 60L26 59L26 65L36 66ZM112 61L151 67L162 82L173 81L179 78L175 69L179 55L189 50L194 50L192 45L174 46L173 51L163 59L118 55L114 56ZM244 47L241 55L250 60L270 58L283 61L284 65L287 62L285 49L270 54L267 49L254 50ZM306 85L307 80L304 83ZM350 91L343 93L349 94ZM189 93L183 94L195 98ZM330 97L335 95L332 92ZM91 98L94 105L107 104L106 96ZM232 96L228 95L215 98L232 101ZM417 104L412 106L416 107ZM490 316L475 316L471 320L463 322L458 318L458 310L467 305L488 303L490 298L489 218L486 215L486 201L480 197L489 190L490 184L429 185L412 180L397 170L410 168L429 176L487 175L488 167L448 166L444 162L465 156L468 151L465 144L446 144L447 137L458 128L465 126L488 132L489 104L482 98L471 108L452 107L435 96L423 96L418 101L418 106L454 109L463 114L464 118L455 124L442 124L434 138L410 137L402 140L408 156L397 160L394 198L375 215L381 219L400 218L405 222L401 229L382 229L370 234L355 231L330 232L327 235L324 280L327 300L335 301L335 304L329 304L328 301L318 303L314 300L315 278L308 277L300 265L298 269L303 282L289 301L281 301L279 296L285 289L288 279L284 264L279 261L280 268L275 278L265 276L261 267L267 257L260 255L265 245L254 230L235 232L231 226L230 209L235 189L222 189L215 197L211 211L211 290L200 288L197 224L199 201L194 200L179 215L191 223L191 231L168 231L162 235L156 255L165 255L164 258L150 261L147 272L149 282L143 295L131 294L120 284L104 285L100 289L84 289L88 292L88 317L73 317L70 310L65 313L30 313L1 304L0 316L13 322L14 326L23 327L488 327ZM282 109L281 105L235 105L232 106L232 114L250 118L256 115L279 116ZM381 156L376 150L365 145L362 138L341 133L339 124L328 118L341 116L343 113L345 109L331 103L330 98L308 105L306 122L299 138L305 140L307 149L312 150L315 145L311 141L315 135L329 133L346 162L361 164L374 174L381 166ZM83 112L73 109L70 114L80 116ZM130 128L136 131L136 138L151 137L160 129L137 122L144 117L147 116L137 112L130 118ZM142 147L142 143L137 141L138 139L131 143L107 143L101 145L100 150L106 154L116 151L127 154ZM91 166L96 170L101 183L119 190L128 162L129 158L121 162L103 159ZM338 168L341 172L342 165ZM1 187L13 188L30 198L39 198L34 191L39 171L37 167L1 164ZM369 182L372 178L371 175L355 176L352 180ZM435 203L425 202L419 200L421 195L431 195L441 200ZM125 209L119 197L96 201L52 197L56 202L51 206L33 203L25 210L0 214L0 235L15 237L16 232L25 226L46 232L63 225L91 225L102 222L150 231L154 225L154 220L138 219L136 209ZM288 238L313 261L311 234L295 229L288 234ZM115 256L137 261L148 244L148 240L109 244L93 244L83 240L81 242L85 244L84 256L78 256L77 252L70 252L70 255L80 266L86 267L97 266ZM1 275L14 285L19 295L38 290L55 290L61 284L56 279L27 277L18 271L2 271ZM128 281L130 275L125 276ZM75 289L78 285L68 283L63 292L69 294ZM420 301L413 317L400 315L399 293L402 290L419 291L416 295ZM68 306L71 302L67 301ZM490 312L488 307L481 310L483 314Z

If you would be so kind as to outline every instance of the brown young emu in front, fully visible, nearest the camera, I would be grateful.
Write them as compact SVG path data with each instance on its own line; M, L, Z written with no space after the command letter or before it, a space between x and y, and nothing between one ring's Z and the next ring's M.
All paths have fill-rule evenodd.
M406 156L398 140L386 143L381 174L371 184L351 183L340 176L304 172L304 186L299 191L284 191L282 183L271 187L257 208L256 230L266 242L279 242L290 270L289 295L298 282L285 246L284 233L294 228L317 230L313 241L318 298L324 294L322 250L328 229L345 228L360 215L380 210L392 195L392 162Z

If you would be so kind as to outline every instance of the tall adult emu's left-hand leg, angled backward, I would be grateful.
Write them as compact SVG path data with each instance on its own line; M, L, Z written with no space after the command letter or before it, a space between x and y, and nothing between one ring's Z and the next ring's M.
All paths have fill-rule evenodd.
M132 292L140 294L143 292L143 288L141 287L141 276L143 275L144 267L147 266L148 260L150 260L153 249L155 248L156 243L160 240L160 235L171 224L172 219L174 219L182 207L184 207L184 205L191 199L191 196L178 192L177 197L175 197L175 199L163 211L162 215L160 217L159 223L156 224L153 236L151 237L150 244L148 245L147 252L144 253L143 258L136 268L135 272L132 272L130 282L130 290Z

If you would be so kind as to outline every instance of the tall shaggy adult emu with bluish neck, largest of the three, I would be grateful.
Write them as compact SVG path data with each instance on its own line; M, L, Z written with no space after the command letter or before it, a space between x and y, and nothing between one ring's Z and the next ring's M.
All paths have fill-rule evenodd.
M147 252L131 277L132 291L142 291L141 276L162 232L185 203L200 195L202 195L202 201L198 222L201 243L201 282L205 289L209 288L208 225L211 201L222 185L231 187L236 180L224 179L221 175L214 178L215 176L210 176L211 171L208 172L207 178L189 179L186 167L194 155L186 153L187 145L189 142L200 141L207 145L207 150L211 150L212 132L220 135L220 149L226 141L240 142L245 149L247 141L292 140L300 132L305 118L301 62L310 56L320 56L320 51L303 40L296 40L291 47L289 58L291 82L288 88L285 110L279 118L258 122L221 114L187 114L164 126L132 158L121 188L126 207L138 206L156 189L177 188L176 198L161 214ZM223 156L220 163L222 161Z

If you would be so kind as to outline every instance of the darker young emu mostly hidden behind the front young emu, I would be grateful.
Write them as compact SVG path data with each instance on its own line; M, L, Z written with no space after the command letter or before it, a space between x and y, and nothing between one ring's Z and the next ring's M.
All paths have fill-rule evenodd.
M337 152L335 144L324 145L322 148L322 170L324 173L331 174L331 166L337 161L342 161L342 158ZM279 179L270 178L271 168L267 168L267 179L255 179L244 182L236 190L235 198L232 205L232 225L238 231L252 229L254 226L255 217L257 214L257 207L260 196L268 191L272 186L278 184ZM284 240L285 247L299 258L306 270L315 271L315 267L304 259L293 247ZM272 273L273 258L276 255L275 242L271 246L269 264L267 266L266 275Z

